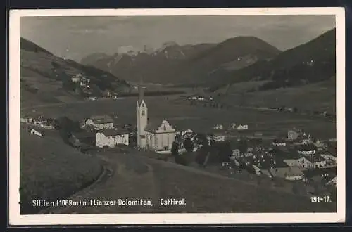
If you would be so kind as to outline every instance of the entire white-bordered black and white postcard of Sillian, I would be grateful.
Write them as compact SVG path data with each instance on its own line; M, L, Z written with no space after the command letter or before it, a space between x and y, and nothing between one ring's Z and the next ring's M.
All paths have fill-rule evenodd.
M344 23L11 11L9 223L344 222Z

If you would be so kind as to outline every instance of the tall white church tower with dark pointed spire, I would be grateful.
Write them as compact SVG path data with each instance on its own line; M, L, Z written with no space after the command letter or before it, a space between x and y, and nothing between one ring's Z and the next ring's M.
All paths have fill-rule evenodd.
M141 79L138 90L139 90L139 98L137 101L137 146L139 148L146 147L146 134L144 129L146 124L148 124L148 108L146 107L146 103L144 102L144 93L143 93L143 81Z

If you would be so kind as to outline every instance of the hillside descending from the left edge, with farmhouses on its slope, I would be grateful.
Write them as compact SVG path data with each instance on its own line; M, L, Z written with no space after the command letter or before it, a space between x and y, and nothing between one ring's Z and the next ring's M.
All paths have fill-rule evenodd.
M74 84L71 77L90 79L90 88ZM84 98L92 92L126 91L129 85L110 72L55 56L37 44L20 38L20 89L22 103L59 103Z

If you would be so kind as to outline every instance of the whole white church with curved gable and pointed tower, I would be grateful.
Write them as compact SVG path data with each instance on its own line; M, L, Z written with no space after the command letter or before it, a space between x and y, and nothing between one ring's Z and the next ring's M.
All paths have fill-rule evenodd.
M148 108L144 101L142 82L139 84L139 99L137 101L137 146L148 150L171 150L175 141L176 130L167 120L150 122Z

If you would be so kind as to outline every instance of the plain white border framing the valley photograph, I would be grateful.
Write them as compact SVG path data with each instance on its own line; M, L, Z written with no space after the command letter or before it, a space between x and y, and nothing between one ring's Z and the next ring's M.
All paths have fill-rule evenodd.
M337 213L48 214L20 215L20 17L137 15L336 15ZM9 36L9 224L245 224L345 221L345 13L344 8L179 8L11 10ZM15 107L16 106L16 107Z

